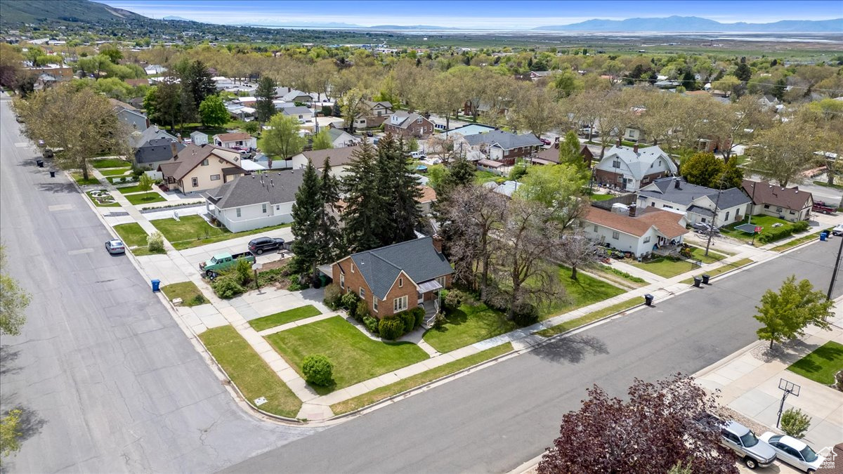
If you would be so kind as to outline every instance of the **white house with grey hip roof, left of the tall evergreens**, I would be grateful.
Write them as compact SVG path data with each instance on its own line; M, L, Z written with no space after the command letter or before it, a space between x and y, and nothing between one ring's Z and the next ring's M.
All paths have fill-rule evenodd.
M240 176L202 193L207 213L232 232L293 222L293 203L303 170Z

